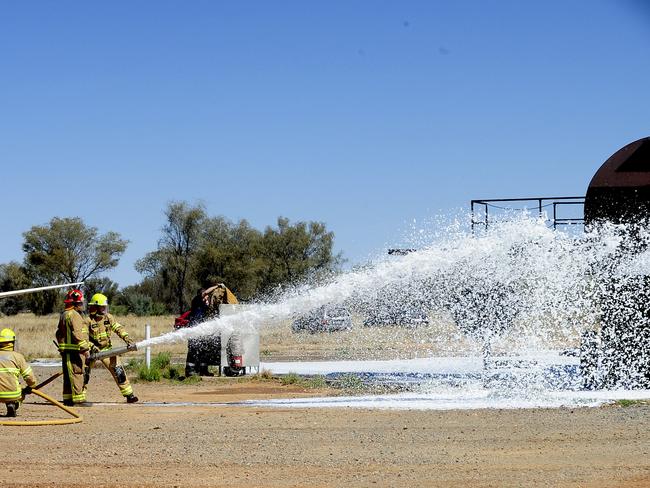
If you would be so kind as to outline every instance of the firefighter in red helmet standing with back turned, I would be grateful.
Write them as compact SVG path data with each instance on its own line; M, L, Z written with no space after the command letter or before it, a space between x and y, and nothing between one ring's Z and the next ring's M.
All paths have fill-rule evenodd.
M73 406L86 402L84 369L90 354L88 327L81 315L84 296L81 290L70 290L65 300L65 311L59 317L56 342L63 367L63 404Z

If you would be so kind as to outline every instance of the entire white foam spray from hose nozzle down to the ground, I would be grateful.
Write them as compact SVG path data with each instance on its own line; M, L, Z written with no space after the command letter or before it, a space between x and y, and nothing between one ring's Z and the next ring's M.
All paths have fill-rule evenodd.
M468 352L461 352L460 347L457 354L449 354L455 359L423 358L438 365L430 374L431 380L421 383L417 392L431 400L430 405L440 403L436 395L460 395L459 402L463 403L465 398L464 404L470 405L467 395L477 391L477 406L600 403L602 400L593 403L593 396L572 396L571 392L580 390L582 383L576 382L575 374L567 374L566 368L573 367L575 372L577 358L572 360L573 366L563 365L566 356L558 356L558 351L575 348L583 331L600 327L603 296L616 296L621 301L616 293L612 295L607 290L608 286L627 286L625 277L650 276L650 233L643 228L634 229L635 244L630 245L625 238L629 229L616 225L584 233L552 230L543 218L508 215L475 235L467 229L466 222L459 219L442 231L436 229L436 236L428 243L423 242L423 233L418 232L421 245L417 252L386 256L362 269L341 273L325 284L292 288L273 302L252 304L234 315L142 341L138 347L222 331L259 329L327 304L344 304L362 316L390 306L415 307L434 316L445 316L456 324L453 337L446 338L452 348L453 344L467 342L467 337L483 344L484 350L501 341L500 353L509 357L501 365L495 360L491 369L483 373L472 368L454 370L454 361L463 363L460 356ZM620 296L632 299L634 293ZM638 302L630 306L638 306ZM346 339L342 336L341 340ZM480 350L478 347L475 351ZM552 364L540 360L549 350L555 351ZM472 361L482 364L480 354ZM445 379L448 373L462 378L450 381ZM616 389L627 388L629 384L605 386ZM561 391L567 392L568 397L558 397ZM376 404L374 400L371 403ZM368 404L359 406L363 405ZM401 400L399 405L398 408L414 407L413 402Z

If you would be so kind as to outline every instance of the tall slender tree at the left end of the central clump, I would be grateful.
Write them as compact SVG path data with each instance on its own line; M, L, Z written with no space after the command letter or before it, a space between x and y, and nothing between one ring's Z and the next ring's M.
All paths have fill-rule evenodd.
M171 202L165 210L166 222L158 249L136 263L136 270L152 277L160 274L163 286L173 290L178 312L185 310L191 291L191 263L205 227L205 208L187 202Z

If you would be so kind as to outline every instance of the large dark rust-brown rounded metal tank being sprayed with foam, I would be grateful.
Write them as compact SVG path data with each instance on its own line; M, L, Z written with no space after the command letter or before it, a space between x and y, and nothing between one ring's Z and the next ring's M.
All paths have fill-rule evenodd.
M647 248L638 232L650 216L650 137L616 151L598 169L585 198L585 226L628 224L625 255ZM622 249L623 250L623 249ZM614 263L607 266L616 267ZM650 276L595 270L600 324L583 336L581 363L590 388L650 388Z

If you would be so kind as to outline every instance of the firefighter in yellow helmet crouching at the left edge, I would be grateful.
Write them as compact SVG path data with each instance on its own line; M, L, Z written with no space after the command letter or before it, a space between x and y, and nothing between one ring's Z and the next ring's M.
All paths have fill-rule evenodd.
M0 330L0 402L7 405L7 417L15 417L23 397L36 386L32 368L22 354L14 351L16 334L11 329ZM27 386L20 387L20 378Z

